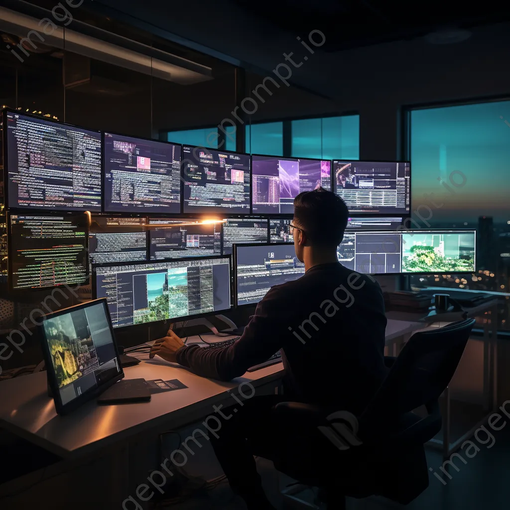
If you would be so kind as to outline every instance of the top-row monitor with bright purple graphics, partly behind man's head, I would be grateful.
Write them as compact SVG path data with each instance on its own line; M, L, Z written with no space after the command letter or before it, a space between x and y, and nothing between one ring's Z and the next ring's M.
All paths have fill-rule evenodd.
M277 156L251 157L253 214L292 214L302 191L331 190L331 162Z

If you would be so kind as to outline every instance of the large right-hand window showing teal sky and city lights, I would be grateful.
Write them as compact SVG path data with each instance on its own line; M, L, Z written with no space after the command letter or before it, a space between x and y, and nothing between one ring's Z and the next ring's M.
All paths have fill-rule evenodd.
M413 276L413 287L509 293L510 100L411 110L409 129L413 228L477 231L476 273Z

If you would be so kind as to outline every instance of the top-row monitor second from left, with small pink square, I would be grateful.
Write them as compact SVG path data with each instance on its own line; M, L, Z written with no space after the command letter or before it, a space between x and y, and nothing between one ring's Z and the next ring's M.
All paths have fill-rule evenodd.
M181 212L181 145L105 133L105 212Z

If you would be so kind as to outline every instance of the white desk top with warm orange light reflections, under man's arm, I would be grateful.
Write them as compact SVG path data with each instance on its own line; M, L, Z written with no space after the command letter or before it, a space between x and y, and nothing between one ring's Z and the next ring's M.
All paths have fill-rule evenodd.
M423 327L423 323L389 320L386 341ZM191 340L191 338L190 338ZM179 428L214 414L213 405L235 401L228 390L248 381L260 387L282 376L278 363L231 382L199 377L189 370L155 358L124 369L126 379L179 379L188 389L152 395L150 402L97 405L87 402L68 416L58 416L47 396L46 372L8 379L0 383L0 425L61 456L87 453L159 427ZM243 389L250 394L250 388Z

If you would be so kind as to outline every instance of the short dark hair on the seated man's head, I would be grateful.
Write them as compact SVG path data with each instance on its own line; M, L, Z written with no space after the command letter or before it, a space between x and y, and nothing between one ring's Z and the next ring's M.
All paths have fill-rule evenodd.
M303 228L312 244L338 246L344 238L349 210L335 193L318 188L294 198L294 221Z

